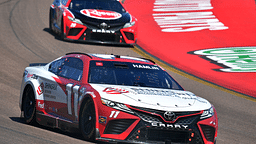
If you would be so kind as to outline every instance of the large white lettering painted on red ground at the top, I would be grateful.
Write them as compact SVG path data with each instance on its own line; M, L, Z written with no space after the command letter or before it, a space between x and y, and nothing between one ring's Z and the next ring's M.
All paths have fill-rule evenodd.
M162 32L228 29L212 9L211 0L156 0L153 17Z

